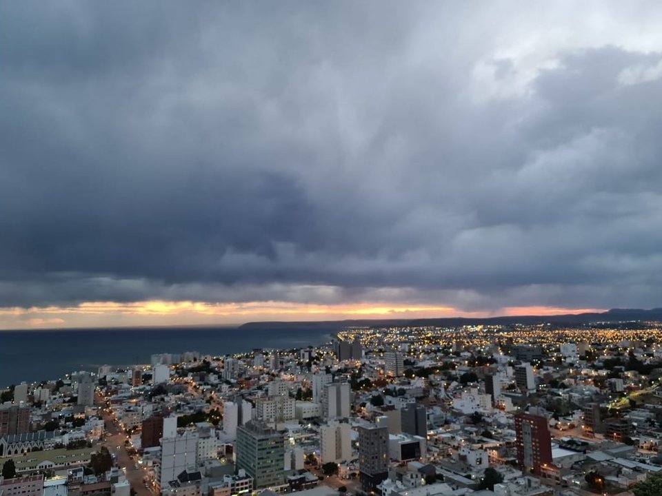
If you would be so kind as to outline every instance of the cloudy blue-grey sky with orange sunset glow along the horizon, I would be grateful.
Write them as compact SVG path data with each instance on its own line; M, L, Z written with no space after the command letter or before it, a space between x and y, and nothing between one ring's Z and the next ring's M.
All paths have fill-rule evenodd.
M0 328L662 306L658 1L0 6Z

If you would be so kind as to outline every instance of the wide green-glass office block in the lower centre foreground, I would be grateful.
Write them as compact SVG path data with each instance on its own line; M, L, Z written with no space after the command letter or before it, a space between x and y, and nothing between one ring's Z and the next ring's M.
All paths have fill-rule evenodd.
M282 433L251 421L237 428L237 469L253 477L255 488L283 484L285 457Z

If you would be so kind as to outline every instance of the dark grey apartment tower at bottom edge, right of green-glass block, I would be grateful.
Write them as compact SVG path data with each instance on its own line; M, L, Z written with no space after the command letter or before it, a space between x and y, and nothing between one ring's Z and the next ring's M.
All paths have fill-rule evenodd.
M388 477L388 429L359 426L359 477L366 493Z

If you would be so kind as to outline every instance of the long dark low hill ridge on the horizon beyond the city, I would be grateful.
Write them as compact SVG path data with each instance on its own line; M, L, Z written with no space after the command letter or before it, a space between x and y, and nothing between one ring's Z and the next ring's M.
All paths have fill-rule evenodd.
M605 312L568 313L556 316L500 316L488 318L422 318L422 319L353 319L325 320L321 322L247 322L239 329L329 329L330 331L344 327L405 327L405 326L439 326L458 327L463 325L488 324L568 324L581 325L596 322L630 322L642 320L662 321L662 308L651 310L641 309L611 309Z

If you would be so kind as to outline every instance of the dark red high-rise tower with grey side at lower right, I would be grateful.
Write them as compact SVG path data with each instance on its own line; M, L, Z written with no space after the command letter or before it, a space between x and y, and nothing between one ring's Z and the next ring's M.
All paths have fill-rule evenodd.
M515 415L517 461L522 471L540 473L543 465L552 464L552 438L548 420L539 415Z

